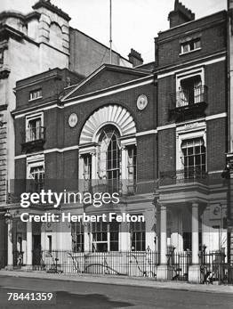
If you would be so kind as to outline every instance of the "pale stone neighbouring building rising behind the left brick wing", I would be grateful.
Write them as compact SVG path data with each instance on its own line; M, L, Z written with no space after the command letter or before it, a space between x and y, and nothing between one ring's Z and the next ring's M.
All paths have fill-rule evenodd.
M70 68L87 76L109 62L109 48L69 27L70 17L50 0L39 0L28 14L0 13L0 205L11 201L9 183L14 179L14 129L16 81L47 69ZM113 51L112 62L132 66ZM67 81L67 85L69 85ZM31 100L40 96L37 92ZM4 219L0 214L0 229ZM1 232L0 248L5 250ZM3 257L3 260L5 258Z

